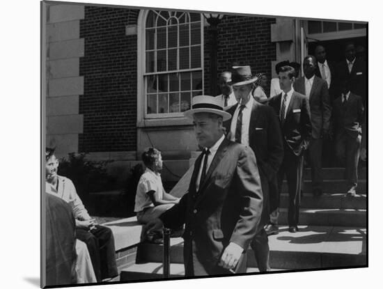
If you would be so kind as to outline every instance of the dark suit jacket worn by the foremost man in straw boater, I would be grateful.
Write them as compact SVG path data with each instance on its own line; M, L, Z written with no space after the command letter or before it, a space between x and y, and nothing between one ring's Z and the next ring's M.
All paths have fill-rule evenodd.
M263 193L256 157L250 148L224 139L196 192L201 159L196 159L189 192L160 219L169 228L185 224L187 276L198 266L208 274L230 274L217 265L221 253L229 242L247 250L260 221Z

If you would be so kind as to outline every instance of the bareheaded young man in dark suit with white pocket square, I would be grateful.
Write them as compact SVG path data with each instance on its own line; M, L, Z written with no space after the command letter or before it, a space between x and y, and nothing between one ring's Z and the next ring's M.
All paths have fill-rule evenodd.
M284 66L279 72L279 84L282 93L269 100L279 116L284 156L278 172L279 193L286 173L288 182L288 226L291 233L298 230L299 201L302 185L304 151L311 138L311 121L308 99L292 88L295 71L291 66Z

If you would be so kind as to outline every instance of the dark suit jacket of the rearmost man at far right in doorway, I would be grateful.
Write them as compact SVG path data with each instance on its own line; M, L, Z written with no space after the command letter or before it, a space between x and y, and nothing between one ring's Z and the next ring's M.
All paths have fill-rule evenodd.
M367 65L359 58L355 59L354 65L352 65L351 73L348 71L347 61L343 60L338 63L336 68L336 75L338 82L341 84L344 80L349 80L351 87L350 91L356 95L360 95L364 105L366 104L367 97ZM341 91L338 89L337 96L341 95Z

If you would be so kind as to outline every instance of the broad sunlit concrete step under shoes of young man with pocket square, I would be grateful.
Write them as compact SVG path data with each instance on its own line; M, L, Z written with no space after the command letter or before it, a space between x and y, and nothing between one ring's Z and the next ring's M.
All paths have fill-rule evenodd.
M365 266L366 228L299 226L297 233L279 227L278 235L269 236L270 267L304 270L327 267ZM183 240L171 238L171 263L183 263ZM141 244L140 262L162 262L163 245ZM257 267L249 249L248 267Z

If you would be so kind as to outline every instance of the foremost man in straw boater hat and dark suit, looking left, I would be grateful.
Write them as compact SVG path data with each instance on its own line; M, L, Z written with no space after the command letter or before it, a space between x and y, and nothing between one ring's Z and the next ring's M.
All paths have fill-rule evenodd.
M198 95L185 116L193 119L203 152L196 159L187 194L148 233L185 224L186 276L246 272L246 251L257 231L263 194L256 157L250 148L228 141L217 97Z

